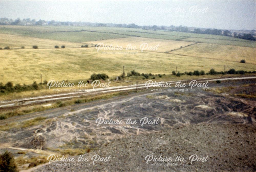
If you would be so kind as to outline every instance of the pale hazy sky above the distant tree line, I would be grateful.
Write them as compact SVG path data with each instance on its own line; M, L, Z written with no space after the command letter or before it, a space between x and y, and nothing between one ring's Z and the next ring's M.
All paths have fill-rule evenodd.
M256 28L256 1L0 1L0 17L216 29Z

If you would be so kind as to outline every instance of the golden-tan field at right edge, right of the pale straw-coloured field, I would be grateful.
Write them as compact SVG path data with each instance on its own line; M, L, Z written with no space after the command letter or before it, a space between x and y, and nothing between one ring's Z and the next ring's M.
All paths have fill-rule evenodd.
M198 43L171 53L237 62L244 59L247 63L256 64L256 48L252 47Z

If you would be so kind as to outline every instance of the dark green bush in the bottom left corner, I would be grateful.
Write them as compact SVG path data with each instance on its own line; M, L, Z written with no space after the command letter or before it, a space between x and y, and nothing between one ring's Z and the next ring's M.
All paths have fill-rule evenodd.
M10 152L5 151L5 153L0 155L0 169L1 171L8 172L17 171L13 155Z

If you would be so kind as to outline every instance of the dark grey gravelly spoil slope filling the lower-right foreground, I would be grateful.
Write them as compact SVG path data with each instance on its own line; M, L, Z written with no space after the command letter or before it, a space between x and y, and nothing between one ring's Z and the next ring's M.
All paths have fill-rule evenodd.
M90 166L43 166L34 171L255 171L256 126L251 124L193 124L163 129L159 133L132 135L102 145L85 154ZM111 155L109 162L90 158ZM187 166L153 166L144 160L148 154L157 157L185 157ZM207 162L188 160L190 155L208 155ZM76 157L77 159L77 157ZM162 163L162 162L161 162ZM174 160L170 163L175 163Z

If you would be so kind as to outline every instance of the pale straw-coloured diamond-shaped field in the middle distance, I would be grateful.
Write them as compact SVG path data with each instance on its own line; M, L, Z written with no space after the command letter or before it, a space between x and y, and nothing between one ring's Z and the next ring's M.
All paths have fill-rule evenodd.
M100 44L104 46L113 46L113 47L123 47L123 50L136 49L136 50L145 50L145 51L154 51L154 52L166 52L180 48L180 46L187 46L193 44L193 42L186 41L173 41L165 39L154 39L154 38L143 38L143 37L128 37L128 38L117 38L117 39L107 39L102 41L91 41L86 42L89 44ZM136 47L136 48L135 48ZM101 51L106 51L101 49Z

